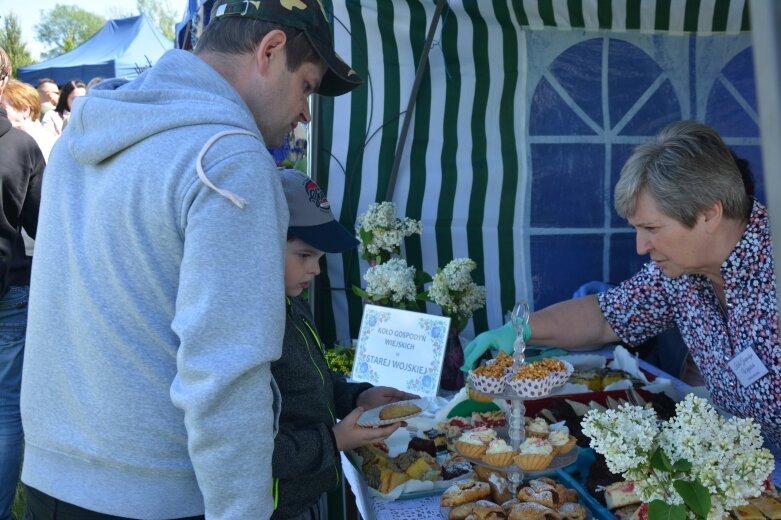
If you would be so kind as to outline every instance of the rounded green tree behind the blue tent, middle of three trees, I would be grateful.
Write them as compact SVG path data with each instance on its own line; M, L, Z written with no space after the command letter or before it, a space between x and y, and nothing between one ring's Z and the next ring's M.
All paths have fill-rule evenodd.
M35 25L38 41L48 45L44 59L71 51L98 32L106 20L75 5L56 4L41 10L41 21Z

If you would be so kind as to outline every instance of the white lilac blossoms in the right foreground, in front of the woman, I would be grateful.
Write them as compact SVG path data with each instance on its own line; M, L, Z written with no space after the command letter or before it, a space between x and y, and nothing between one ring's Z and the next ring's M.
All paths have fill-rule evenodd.
M672 482L697 479L711 495L708 518L720 520L725 511L760 494L774 460L762 448L761 431L753 419L725 420L708 401L694 395L678 403L675 417L661 427L655 424L655 415L652 425L651 413L640 410L627 405L606 412L592 410L583 419L583 432L605 456L611 471L637 482L644 501L682 504ZM690 462L691 471L671 474L653 469L650 455L657 447L672 464Z

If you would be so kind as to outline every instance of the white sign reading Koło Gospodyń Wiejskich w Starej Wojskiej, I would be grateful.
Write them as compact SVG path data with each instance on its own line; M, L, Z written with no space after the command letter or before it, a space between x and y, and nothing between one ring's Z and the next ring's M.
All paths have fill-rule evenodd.
M366 305L352 378L435 396L449 328L447 317Z

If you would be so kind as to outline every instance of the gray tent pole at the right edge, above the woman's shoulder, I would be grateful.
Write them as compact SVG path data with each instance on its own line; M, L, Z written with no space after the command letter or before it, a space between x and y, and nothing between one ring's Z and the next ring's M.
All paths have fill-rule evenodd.
M752 0L751 34L754 47L754 80L759 107L767 211L773 239L773 262L781 266L781 3ZM776 300L781 302L776 276ZM780 316L781 319L781 316Z

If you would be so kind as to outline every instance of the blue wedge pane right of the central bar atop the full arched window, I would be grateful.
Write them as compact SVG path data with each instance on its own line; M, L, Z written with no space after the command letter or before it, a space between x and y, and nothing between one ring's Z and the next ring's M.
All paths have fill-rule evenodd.
M659 65L631 43L610 39L608 57L610 128L632 109L661 74Z

